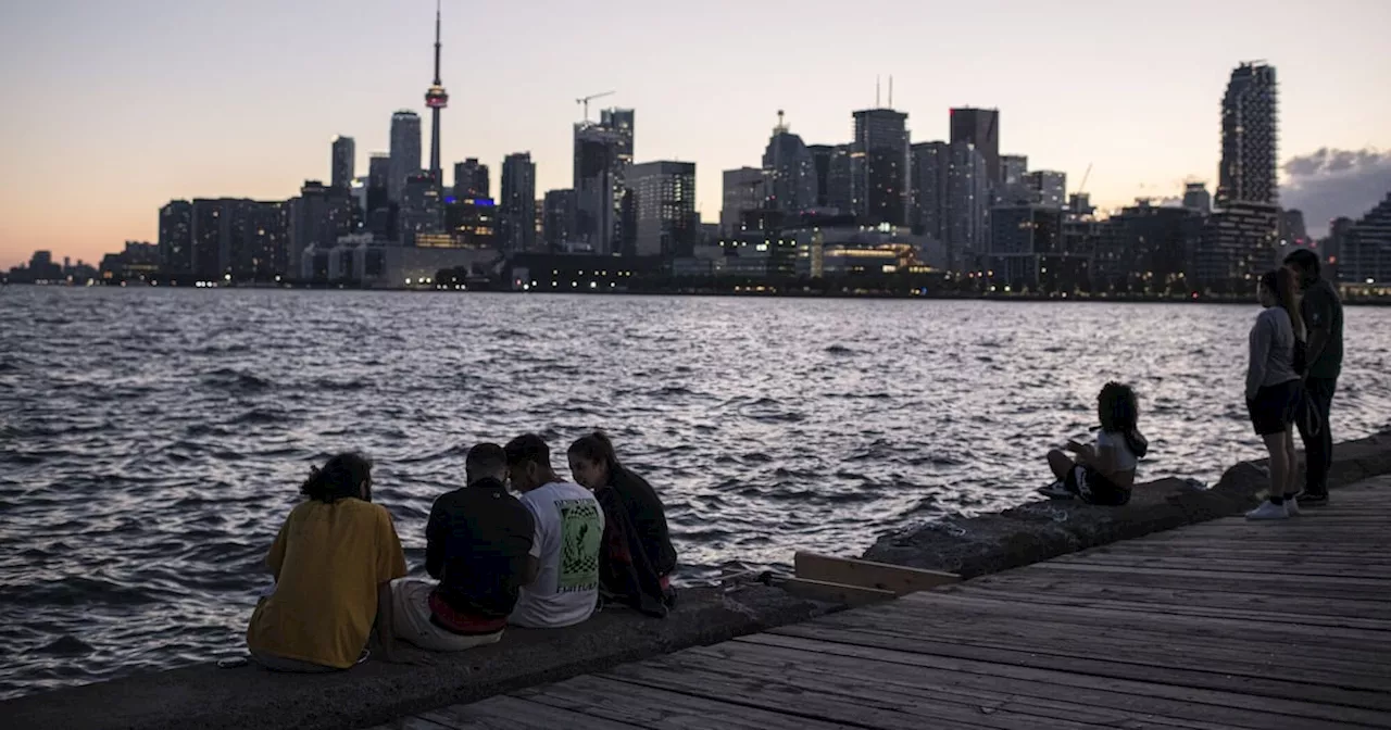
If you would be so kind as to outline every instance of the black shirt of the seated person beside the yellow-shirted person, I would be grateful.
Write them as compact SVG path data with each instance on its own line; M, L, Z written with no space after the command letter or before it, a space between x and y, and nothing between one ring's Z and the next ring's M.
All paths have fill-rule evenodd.
M426 570L449 608L504 619L517 602L536 535L531 513L501 481L479 480L435 499L426 524Z

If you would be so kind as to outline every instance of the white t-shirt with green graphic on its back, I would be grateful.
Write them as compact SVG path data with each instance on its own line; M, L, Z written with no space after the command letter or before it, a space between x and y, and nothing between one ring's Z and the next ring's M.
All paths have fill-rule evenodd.
M522 588L508 623L527 628L574 626L594 613L600 599L600 549L604 510L579 484L556 481L522 495L536 517L531 556L540 571Z

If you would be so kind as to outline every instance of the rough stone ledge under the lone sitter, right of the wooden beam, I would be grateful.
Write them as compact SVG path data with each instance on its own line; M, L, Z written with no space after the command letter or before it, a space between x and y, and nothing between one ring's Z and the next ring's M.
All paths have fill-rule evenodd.
M1335 488L1385 473L1391 473L1391 432L1337 445L1328 484ZM1227 517L1260 501L1257 495L1267 488L1264 462L1237 464L1203 492L1184 491L1181 485L1177 478L1136 484L1124 508L1032 502L995 514L928 523L879 538L864 559L971 578Z

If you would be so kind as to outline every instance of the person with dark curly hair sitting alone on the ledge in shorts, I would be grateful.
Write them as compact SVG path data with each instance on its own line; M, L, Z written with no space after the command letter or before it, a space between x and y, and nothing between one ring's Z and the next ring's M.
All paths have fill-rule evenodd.
M1135 467L1149 451L1139 432L1139 399L1129 385L1107 382L1096 398L1102 421L1096 445L1067 442L1067 453L1053 449L1047 464L1057 481L1039 489L1052 499L1078 498L1089 505L1120 506L1129 502Z

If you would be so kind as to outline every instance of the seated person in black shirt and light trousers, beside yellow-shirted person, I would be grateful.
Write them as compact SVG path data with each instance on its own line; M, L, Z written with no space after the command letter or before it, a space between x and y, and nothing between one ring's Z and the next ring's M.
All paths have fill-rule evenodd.
M421 649L497 644L522 584L536 576L536 521L502 482L506 452L479 444L465 474L467 487L435 499L426 524L426 571L440 583L391 583L395 633Z

